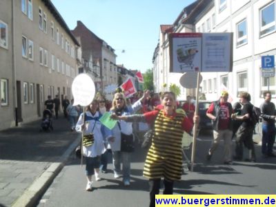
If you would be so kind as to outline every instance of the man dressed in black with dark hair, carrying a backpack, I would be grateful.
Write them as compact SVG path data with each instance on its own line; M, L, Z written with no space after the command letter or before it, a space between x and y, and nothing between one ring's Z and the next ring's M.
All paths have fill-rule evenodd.
M241 115L232 115L235 120L241 120L242 124L239 126L236 133L236 155L234 159L241 161L244 154L244 146L249 150L249 157L246 161L256 162L255 148L253 142L253 104L250 103L251 97L248 92L241 92L239 94L239 102L242 103Z

